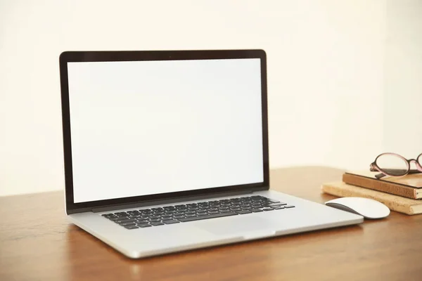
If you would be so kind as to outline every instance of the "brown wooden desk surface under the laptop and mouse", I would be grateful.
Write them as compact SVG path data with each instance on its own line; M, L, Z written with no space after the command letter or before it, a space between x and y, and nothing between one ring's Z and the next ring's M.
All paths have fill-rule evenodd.
M271 171L271 186L316 202L342 171ZM300 179L300 180L298 180ZM0 280L421 280L422 215L392 212L312 233L142 260L68 223L63 192L0 197Z

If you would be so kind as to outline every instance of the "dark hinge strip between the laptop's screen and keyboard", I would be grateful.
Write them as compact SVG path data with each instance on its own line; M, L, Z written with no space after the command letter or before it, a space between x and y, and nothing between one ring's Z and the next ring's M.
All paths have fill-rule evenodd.
M102 211L115 211L119 209L132 209L132 208L148 207L148 206L155 206L155 205L161 205L161 204L172 204L172 203L178 203L178 202L204 200L204 199L210 199L210 198L215 198L215 197L245 195L245 194L250 194L254 191L257 191L257 190L255 189L255 190L241 190L241 191L234 191L234 192L218 192L218 193L207 194L207 195L194 195L194 196L184 196L184 197L178 197L178 198L169 198L169 199L163 199L163 200L136 202L136 203L129 203L129 204L117 204L117 205L110 205L106 207L92 208L91 211L93 211L94 213L100 213Z

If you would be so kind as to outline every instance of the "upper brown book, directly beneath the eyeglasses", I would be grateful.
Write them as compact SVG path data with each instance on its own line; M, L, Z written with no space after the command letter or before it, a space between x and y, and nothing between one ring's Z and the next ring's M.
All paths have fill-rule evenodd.
M343 174L343 182L411 199L422 199L422 174L411 174L402 177L385 176L380 179L375 177L376 174L380 173L350 171Z

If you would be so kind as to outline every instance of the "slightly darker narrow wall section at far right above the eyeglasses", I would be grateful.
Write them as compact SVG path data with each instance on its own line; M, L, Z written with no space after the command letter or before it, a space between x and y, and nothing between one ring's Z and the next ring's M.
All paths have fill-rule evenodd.
M387 1L383 149L422 152L422 1Z

